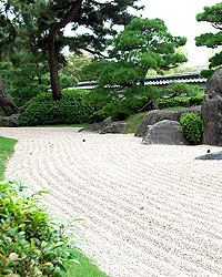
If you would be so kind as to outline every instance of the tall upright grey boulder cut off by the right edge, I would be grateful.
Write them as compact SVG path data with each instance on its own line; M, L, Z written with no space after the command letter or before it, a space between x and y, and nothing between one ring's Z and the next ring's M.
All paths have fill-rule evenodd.
M222 66L206 85L202 104L203 143L222 146Z

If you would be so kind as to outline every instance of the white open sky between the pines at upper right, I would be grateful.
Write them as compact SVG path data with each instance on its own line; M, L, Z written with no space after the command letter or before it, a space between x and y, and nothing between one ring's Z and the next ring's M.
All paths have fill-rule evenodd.
M205 32L215 32L215 29L208 22L198 22L195 16L203 12L205 6L211 7L221 2L220 0L141 0L140 2L145 6L142 12L144 18L160 18L171 34L188 39L185 50L189 62L185 66L208 64L212 49L195 47L194 38Z

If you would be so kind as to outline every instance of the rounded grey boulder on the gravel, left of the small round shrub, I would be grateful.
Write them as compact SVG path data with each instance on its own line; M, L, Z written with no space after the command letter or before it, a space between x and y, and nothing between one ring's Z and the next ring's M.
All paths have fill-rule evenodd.
M148 126L142 144L188 145L189 142L179 122L163 120Z

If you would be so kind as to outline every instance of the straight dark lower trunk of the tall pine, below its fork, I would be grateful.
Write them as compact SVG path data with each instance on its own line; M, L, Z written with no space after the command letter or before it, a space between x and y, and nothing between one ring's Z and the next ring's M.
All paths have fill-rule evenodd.
M59 73L58 73L58 57L56 51L56 34L51 33L49 35L49 68L50 68L50 81L52 95L54 100L61 100L62 94L59 84Z

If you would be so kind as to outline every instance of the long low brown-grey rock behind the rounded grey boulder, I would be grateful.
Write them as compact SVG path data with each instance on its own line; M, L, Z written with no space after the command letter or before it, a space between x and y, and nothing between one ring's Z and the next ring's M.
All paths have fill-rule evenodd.
M159 121L171 120L180 122L180 116L182 113L196 112L201 114L201 106L183 107L178 110L153 110L144 115L141 124L139 125L135 136L143 137L148 125L153 125Z

